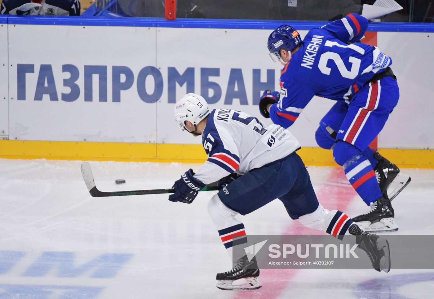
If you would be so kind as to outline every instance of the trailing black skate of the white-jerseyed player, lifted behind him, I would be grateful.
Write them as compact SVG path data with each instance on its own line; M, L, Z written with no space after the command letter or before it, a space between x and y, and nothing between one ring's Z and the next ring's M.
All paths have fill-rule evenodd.
M369 256L372 268L378 272L384 271L387 273L390 271L390 248L386 239L366 233L354 223L349 227L348 231L356 236L357 247L365 251Z

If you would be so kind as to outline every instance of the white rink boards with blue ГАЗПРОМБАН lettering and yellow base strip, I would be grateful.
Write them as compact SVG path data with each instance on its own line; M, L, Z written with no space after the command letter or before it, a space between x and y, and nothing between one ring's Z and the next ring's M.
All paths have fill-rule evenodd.
M201 141L179 131L173 120L177 99L200 93L211 108L260 117L262 91L277 89L279 83L280 65L271 61L265 46L278 23L264 23L263 29L258 23L252 29L240 23L241 29L233 24L215 28L215 22L192 28L187 21L169 27L174 23L133 18L128 23L4 20L0 135L9 141L0 141L0 156L5 158L201 160ZM300 30L304 36L316 26L302 23L298 28L305 29ZM426 28L434 31L431 27ZM422 27L417 29L422 32L401 32L415 30L402 24L397 28L401 30L370 33L392 57L401 93L378 147L391 154L404 150L401 164L430 167L434 36ZM290 128L308 162L333 163L329 151L317 148L314 136L333 103L316 97Z

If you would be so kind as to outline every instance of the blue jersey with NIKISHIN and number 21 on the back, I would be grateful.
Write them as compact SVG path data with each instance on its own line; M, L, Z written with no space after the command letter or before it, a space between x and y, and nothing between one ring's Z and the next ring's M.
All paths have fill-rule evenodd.
M280 100L270 107L275 124L288 128L314 95L346 101L392 60L380 49L359 41L368 20L350 13L310 30L280 76Z

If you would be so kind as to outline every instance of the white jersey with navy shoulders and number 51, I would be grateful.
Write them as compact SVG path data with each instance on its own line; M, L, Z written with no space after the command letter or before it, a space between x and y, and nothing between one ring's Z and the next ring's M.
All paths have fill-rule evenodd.
M210 113L202 144L209 158L194 177L204 184L235 171L245 174L300 148L299 141L281 126L266 127L258 118L230 109Z

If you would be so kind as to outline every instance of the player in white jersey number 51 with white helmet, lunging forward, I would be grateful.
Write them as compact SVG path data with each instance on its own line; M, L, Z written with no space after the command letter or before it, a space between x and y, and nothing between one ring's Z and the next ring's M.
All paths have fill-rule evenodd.
M181 130L202 135L209 158L197 173L189 169L182 174L169 200L191 204L205 185L216 181L224 185L211 197L208 213L231 261L232 240L246 235L244 224L235 216L249 214L278 198L289 216L306 227L323 230L340 240L349 234L359 237L359 247L368 254L373 268L390 270L387 240L365 233L346 214L319 204L309 173L296 153L300 144L288 130L279 125L267 127L240 111L210 111L204 98L193 93L179 100L174 110ZM233 269L217 274L217 287L258 289L259 273L254 258L249 261L246 255L239 256Z

